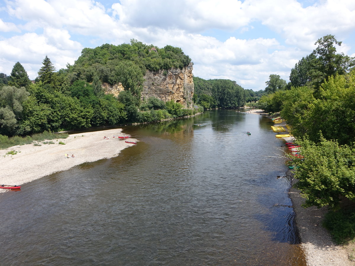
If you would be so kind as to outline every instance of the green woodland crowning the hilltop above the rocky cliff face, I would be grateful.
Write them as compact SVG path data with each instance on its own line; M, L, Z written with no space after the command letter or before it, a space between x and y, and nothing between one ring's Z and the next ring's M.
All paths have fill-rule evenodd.
M77 78L91 82L94 76L98 76L102 82L114 84L118 82L116 67L122 61L132 62L143 74L146 70L182 68L191 62L180 48L167 45L165 48L155 47L155 52L151 51L152 47L132 39L131 44L103 44L94 49L84 48L75 64L70 66L68 75L72 82Z

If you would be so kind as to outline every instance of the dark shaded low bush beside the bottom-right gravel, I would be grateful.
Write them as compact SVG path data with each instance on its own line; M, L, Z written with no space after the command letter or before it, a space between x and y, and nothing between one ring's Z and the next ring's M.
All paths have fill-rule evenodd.
M336 244L344 244L355 238L355 211L331 210L322 225L329 230Z

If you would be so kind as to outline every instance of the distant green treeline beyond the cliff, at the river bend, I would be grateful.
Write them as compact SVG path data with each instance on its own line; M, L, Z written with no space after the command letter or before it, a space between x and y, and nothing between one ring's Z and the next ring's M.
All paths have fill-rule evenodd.
M209 79L193 77L195 86L193 101L204 109L239 109L246 102L256 102L264 93L245 90L230 79Z

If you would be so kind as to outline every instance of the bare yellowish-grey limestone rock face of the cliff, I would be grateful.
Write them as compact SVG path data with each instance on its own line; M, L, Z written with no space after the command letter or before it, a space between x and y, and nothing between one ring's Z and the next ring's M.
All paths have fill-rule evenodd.
M155 97L163 101L180 102L185 108L192 108L193 102L193 80L192 63L180 68L171 68L170 70L159 70L158 72L147 71L144 75L142 100L149 97ZM110 86L103 84L106 93L117 96L122 90L122 85L116 84Z

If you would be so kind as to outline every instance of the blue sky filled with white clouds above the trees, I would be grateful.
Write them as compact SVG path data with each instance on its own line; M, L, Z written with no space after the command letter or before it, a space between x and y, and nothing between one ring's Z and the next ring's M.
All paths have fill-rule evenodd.
M180 47L193 75L265 89L332 34L355 56L354 0L0 0L0 73L16 62L30 79L47 55L58 71L83 48L136 39Z

